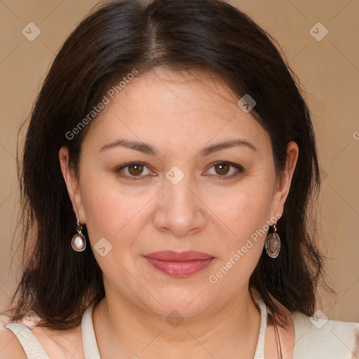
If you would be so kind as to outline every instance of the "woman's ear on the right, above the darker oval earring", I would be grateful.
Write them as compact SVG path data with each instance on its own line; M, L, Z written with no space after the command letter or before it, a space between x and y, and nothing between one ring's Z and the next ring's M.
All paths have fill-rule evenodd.
M290 184L292 182L295 165L297 164L298 155L299 148L297 143L293 141L289 142L287 145L287 163L285 170L276 181L276 189L273 194L271 218L276 217L279 219L283 214L284 203L289 194Z

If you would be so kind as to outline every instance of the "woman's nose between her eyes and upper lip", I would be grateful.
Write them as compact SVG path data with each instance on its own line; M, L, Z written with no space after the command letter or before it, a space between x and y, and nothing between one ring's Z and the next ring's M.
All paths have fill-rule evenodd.
M172 232L176 237L203 230L207 222L205 204L201 201L198 186L189 176L184 175L177 184L164 179L153 220L158 231Z

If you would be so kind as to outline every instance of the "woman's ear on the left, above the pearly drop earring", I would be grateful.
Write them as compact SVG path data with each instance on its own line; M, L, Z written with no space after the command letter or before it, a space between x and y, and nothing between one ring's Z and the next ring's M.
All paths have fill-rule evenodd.
M81 224L86 223L85 211L83 210L83 203L81 200L81 192L79 190L79 179L76 177L74 170L69 165L69 149L61 147L59 151L59 159L62 176L65 179L67 192L72 203L72 209L76 216L76 210L79 214Z

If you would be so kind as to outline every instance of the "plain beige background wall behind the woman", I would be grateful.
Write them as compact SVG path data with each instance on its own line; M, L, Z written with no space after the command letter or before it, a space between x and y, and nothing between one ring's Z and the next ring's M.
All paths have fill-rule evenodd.
M231 0L271 34L302 81L318 137L323 191L320 247L337 297L323 295L318 310L337 320L359 322L359 1ZM92 0L0 0L0 309L15 285L11 241L18 213L16 137L54 54L65 36L97 3ZM41 34L23 34L34 22ZM310 29L321 22L321 41ZM322 36L323 27L313 27ZM15 248L13 248L15 250Z

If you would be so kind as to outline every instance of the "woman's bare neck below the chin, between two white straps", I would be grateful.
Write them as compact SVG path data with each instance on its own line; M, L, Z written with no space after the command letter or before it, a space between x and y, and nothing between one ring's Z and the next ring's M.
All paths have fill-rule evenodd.
M248 287L215 312L182 323L140 309L118 295L107 295L93 309L93 325L102 358L253 358L260 313ZM174 318L175 319L175 318ZM220 344L220 345L219 345ZM126 355L126 356L125 356Z

